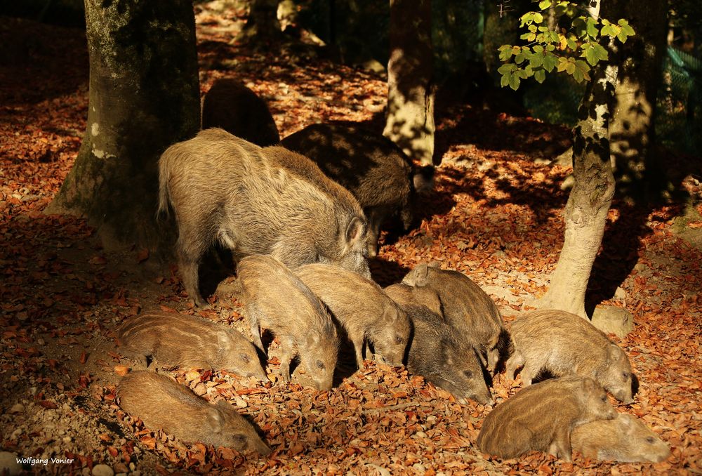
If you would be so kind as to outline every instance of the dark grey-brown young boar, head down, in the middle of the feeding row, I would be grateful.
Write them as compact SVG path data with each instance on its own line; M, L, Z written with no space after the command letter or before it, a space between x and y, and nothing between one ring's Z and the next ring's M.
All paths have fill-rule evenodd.
M406 304L413 331L407 369L447 390L459 401L472 398L492 404L482 366L472 344L457 336L444 319L425 305Z

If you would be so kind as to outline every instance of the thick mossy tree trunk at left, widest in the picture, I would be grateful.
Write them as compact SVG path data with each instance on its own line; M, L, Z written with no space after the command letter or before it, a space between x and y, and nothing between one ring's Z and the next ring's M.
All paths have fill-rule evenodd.
M157 161L199 128L192 2L86 0L88 123L46 213L84 216L108 247L159 243Z

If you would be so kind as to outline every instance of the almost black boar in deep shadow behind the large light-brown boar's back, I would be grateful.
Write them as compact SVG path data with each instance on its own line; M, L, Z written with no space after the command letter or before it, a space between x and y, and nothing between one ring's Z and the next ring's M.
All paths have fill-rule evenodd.
M241 82L217 79L202 102L202 128L223 128L251 143L265 147L280 142L268 105Z

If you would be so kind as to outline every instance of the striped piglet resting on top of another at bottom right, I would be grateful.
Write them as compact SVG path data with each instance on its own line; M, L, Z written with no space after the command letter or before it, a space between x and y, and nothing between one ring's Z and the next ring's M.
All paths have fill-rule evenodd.
M604 388L592 378L552 378L496 406L485 418L477 444L500 458L517 458L536 450L571 461L571 430L616 416Z

